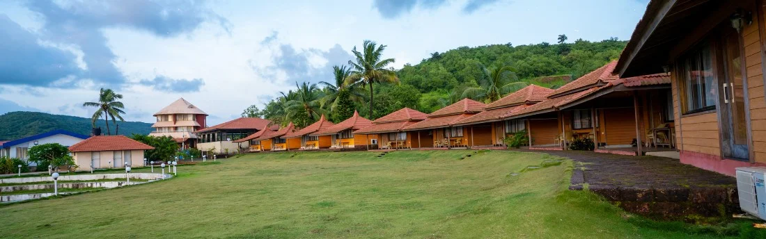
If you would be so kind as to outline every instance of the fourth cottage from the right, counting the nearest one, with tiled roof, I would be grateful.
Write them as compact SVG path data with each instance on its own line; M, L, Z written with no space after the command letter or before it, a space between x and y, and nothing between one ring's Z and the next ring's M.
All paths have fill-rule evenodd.
M458 121L475 115L486 105L473 99L463 99L427 115L424 121L404 128L415 135L419 147L467 147L473 144L469 128L453 127Z

